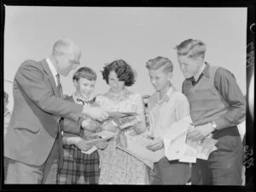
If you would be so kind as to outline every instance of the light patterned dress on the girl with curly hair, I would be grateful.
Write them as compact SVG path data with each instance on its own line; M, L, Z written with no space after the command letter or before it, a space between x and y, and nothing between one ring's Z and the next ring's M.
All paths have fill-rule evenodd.
M131 93L125 89L125 93L113 96L108 92L96 97L96 103L108 111L137 112L143 121L138 126L145 126L143 99L138 93ZM135 133L133 127L125 128L125 133ZM108 142L106 150L100 154L100 178L99 184L149 184L146 165L136 157L121 150L113 138Z

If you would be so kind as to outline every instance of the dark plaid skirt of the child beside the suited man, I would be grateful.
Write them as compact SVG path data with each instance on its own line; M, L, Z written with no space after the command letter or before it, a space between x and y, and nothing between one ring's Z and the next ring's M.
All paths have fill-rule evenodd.
M98 184L99 154L84 154L75 145L63 145L63 167L58 170L57 184Z

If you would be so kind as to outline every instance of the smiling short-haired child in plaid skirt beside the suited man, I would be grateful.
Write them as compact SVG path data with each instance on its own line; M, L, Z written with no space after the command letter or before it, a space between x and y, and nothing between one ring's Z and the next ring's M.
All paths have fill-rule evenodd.
M76 92L66 99L75 103L88 103L90 93L95 88L96 73L88 67L81 67L73 75L73 83ZM68 133L68 130L76 126L85 127L83 136ZM95 150L90 154L84 154L81 150L90 150L90 146L84 144L84 139L93 138L91 134L96 131L99 124L90 118L81 123L61 121L61 130L63 133L63 167L59 167L57 174L57 184L98 184L100 175L99 154ZM107 147L107 143L98 144L99 149Z

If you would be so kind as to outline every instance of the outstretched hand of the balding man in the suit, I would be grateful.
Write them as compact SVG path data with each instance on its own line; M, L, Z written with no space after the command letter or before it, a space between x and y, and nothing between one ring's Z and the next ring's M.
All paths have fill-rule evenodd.
M82 113L98 121L104 121L108 119L107 111L103 110L101 107L91 107L90 105L84 105L84 110Z

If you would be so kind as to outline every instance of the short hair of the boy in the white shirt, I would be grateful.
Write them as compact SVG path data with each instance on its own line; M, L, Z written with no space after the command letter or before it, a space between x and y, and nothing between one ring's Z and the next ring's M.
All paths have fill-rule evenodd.
M168 58L158 56L154 59L149 59L146 63L146 68L148 70L158 70L160 67L164 66L163 71L172 72L173 64Z

